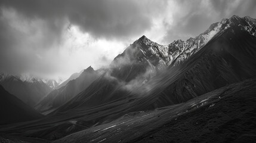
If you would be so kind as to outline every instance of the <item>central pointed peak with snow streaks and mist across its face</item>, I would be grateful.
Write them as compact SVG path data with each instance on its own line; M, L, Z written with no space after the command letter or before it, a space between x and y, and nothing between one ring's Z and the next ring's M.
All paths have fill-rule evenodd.
M142 36L112 61L110 75L124 82L131 82L138 77L145 80L165 69L169 60L167 46Z

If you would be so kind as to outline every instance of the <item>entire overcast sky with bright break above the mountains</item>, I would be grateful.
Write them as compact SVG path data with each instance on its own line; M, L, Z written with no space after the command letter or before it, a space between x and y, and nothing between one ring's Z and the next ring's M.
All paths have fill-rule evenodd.
M140 36L189 39L255 0L0 0L0 71L67 77L109 64Z

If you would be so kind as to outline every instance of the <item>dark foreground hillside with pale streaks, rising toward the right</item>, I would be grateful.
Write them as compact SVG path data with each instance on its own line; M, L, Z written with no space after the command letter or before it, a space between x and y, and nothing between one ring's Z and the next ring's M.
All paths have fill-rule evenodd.
M249 79L186 103L125 114L55 141L2 134L0 142L254 142L255 103L256 79Z

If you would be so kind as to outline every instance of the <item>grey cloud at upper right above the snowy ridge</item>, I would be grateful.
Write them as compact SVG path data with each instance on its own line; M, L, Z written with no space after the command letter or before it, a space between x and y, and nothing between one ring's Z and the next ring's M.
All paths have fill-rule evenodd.
M164 42L189 39L203 33L208 27L232 15L256 18L255 0L205 0L177 1L179 11L174 13L174 23L165 23L167 33ZM175 27L175 28L173 28Z

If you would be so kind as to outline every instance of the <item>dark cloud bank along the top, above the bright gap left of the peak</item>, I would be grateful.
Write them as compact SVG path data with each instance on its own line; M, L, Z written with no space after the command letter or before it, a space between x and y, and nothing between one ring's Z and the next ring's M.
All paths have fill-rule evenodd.
M5 0L1 7L13 8L26 18L41 18L49 21L48 26L54 33L60 34L65 18L84 32L95 38L127 38L139 35L150 28L152 15L158 13L158 7L150 12L147 8L153 1L117 1L117 0ZM156 1L155 1L156 3ZM157 2L164 6L164 1Z

